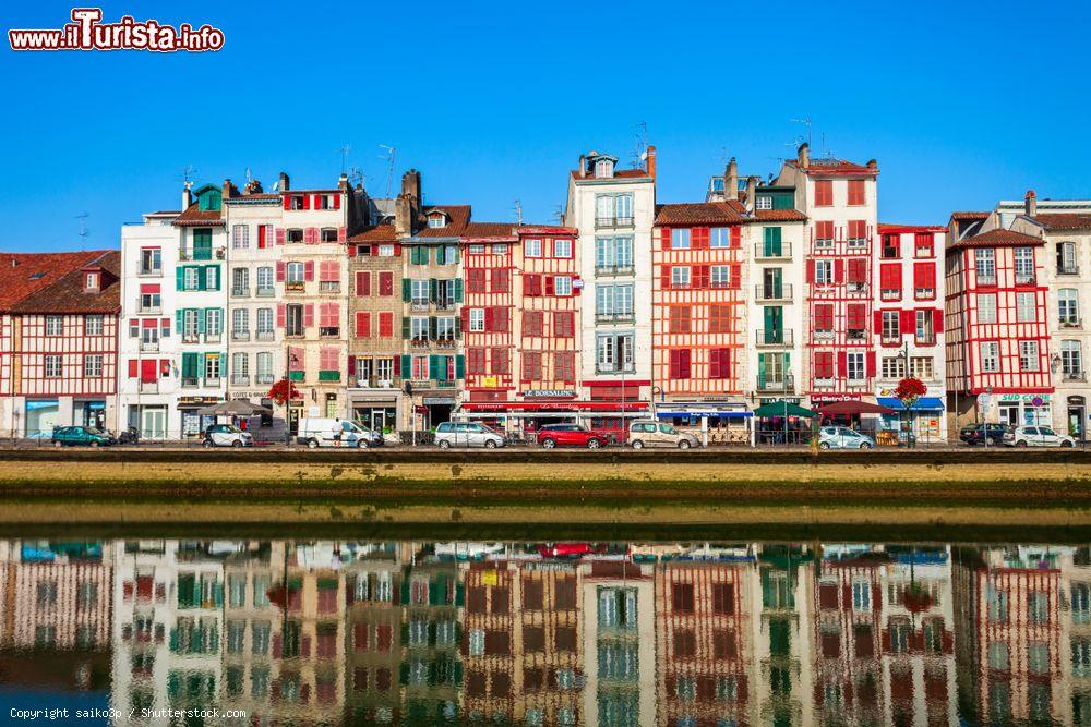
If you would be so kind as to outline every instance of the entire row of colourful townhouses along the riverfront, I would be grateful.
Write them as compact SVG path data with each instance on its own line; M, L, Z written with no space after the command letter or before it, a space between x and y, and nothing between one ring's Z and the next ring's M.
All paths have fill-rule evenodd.
M876 428L935 439L983 420L1082 435L1091 202L889 225L878 175L804 144L765 180L732 159L704 201L657 204L655 147L634 169L592 152L549 226L425 203L416 170L395 198L345 175L187 184L120 255L3 256L0 432L196 437L202 408L244 399L274 408L271 438L300 416L407 433L651 414L721 443L787 400L880 404ZM927 387L908 417L907 376Z

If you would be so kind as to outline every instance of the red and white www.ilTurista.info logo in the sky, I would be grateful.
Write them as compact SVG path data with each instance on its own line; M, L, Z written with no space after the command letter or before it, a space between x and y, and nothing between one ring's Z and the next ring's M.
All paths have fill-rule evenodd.
M136 21L122 16L118 23L103 23L100 8L73 8L72 22L61 28L11 29L12 50L178 50L203 52L224 47L224 32L211 25L193 28L182 23L177 28L158 21Z

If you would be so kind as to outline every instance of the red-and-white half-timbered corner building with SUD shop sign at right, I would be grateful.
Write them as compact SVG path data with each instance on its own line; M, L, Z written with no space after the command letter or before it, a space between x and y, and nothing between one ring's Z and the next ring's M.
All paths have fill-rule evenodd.
M1052 424L1044 254L1041 238L1005 229L947 247L947 388L960 419Z

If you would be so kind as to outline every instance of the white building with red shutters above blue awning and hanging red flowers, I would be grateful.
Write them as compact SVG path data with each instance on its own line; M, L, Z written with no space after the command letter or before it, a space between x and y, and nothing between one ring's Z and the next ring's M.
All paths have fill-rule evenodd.
M884 428L911 426L918 437L947 438L946 359L944 343L944 249L946 228L879 225L873 263L873 339L877 352L875 397L898 413L885 416ZM927 392L908 417L894 391L912 376Z

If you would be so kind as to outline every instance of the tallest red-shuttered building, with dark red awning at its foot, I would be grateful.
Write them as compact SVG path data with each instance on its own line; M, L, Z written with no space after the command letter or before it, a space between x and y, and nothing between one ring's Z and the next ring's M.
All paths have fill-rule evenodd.
M806 378L812 405L874 398L872 258L876 235L874 160L812 159L800 146L775 185L794 186L806 228Z

